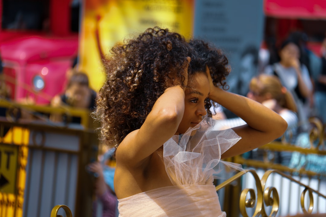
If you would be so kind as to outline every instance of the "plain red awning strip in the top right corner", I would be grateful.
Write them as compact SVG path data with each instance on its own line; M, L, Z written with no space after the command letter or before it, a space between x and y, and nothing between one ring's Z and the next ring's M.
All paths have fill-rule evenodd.
M279 18L326 19L326 0L265 0L264 12Z

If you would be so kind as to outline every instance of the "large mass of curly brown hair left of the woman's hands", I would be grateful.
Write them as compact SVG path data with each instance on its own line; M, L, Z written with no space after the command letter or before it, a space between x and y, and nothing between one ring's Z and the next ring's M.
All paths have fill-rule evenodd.
M159 27L111 49L104 61L106 81L95 112L109 147L117 147L128 133L140 129L171 82L183 84L190 53L183 36Z

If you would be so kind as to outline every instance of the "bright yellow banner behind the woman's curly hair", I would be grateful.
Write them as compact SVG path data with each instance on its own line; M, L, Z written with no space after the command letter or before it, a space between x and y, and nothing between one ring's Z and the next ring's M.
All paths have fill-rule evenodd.
M95 90L105 76L99 46L104 54L125 38L159 26L192 37L194 0L85 0L79 43L79 70L87 73Z

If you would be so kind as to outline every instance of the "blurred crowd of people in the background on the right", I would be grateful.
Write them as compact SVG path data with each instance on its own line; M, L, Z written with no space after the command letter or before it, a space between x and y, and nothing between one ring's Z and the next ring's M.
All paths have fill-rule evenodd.
M326 38L320 55L308 49L304 33L294 32L279 45L261 48L259 54L246 52L242 59L246 63L242 62L241 66L247 70L240 70L243 74L238 75L236 84L241 88L235 91L274 110L286 120L288 129L279 141L285 139L296 146L310 148L309 134L313 126L309 118L317 117L324 129L326 126ZM253 68L257 69L254 73ZM211 110L213 118L220 120L221 129L246 124L239 117L229 116L223 108ZM317 140L312 145L316 147L318 143ZM326 173L326 156L274 152L267 155L268 159L263 159L262 151L258 149L244 156L274 161L298 170L305 168Z

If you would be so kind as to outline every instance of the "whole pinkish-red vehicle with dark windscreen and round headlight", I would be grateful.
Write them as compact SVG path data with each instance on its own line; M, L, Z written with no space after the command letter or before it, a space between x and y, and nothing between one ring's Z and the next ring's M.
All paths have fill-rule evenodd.
M0 0L0 58L10 98L49 104L63 91L66 71L78 53L79 5L70 0L15 2Z

